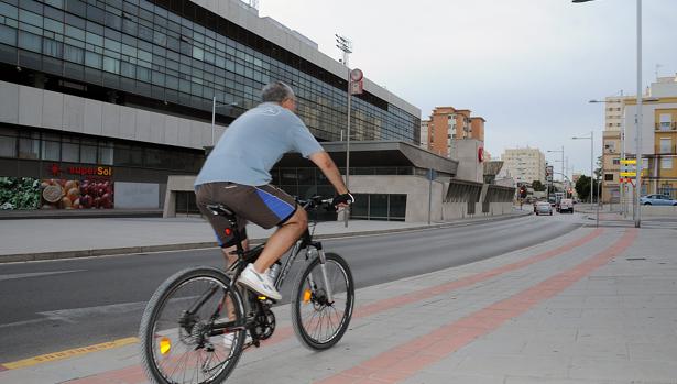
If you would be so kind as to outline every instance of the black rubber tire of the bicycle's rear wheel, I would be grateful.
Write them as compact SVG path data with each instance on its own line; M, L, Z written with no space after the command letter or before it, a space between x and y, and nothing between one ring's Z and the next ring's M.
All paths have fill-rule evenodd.
M155 293L153 294L153 296L151 297L151 299L149 300L145 307L143 317L141 319L141 325L139 327L139 339L140 339L140 348L141 348L142 366L143 366L143 370L145 371L146 377L152 383L157 383L157 384L176 383L176 381L165 377L165 375L161 372L161 369L159 366L159 364L160 365L162 364L162 361L159 361L156 359L156 354L154 353L154 350L156 349L155 342L160 333L156 333L155 327L156 327L156 322L160 319L160 316L162 315L162 311L165 308L165 305L167 305L170 299L173 298L173 295L177 293L181 287L186 286L190 282L197 282L200 279L216 282L218 285L220 285L221 289L228 288L229 283L230 283L229 277L226 276L223 272L217 268L212 268L212 267L186 268L186 270L175 273L170 278L164 281L164 283L162 283L160 287L157 287L157 289L155 290ZM242 299L241 299L241 295L238 292L238 289L228 288L227 292L225 290L223 295L229 295L229 297L231 298L231 303L233 304L234 320L242 320L244 318L244 310L242 309L243 308ZM181 298L178 296L174 297L175 300L186 300L188 298L190 297L189 296L181 297ZM216 310L216 308L214 308L214 310ZM175 321L178 321L178 320L175 318ZM176 326L177 326L176 329L181 333L182 327L178 326L178 322L176 323ZM228 378L232 370L238 364L238 361L242 353L245 331L237 331L234 334L236 336L233 338L234 339L233 343L230 347L231 349L226 360L227 362L223 364L223 367L220 369L220 372L218 372L214 376L205 378L204 381L199 381L199 374L197 374L197 381L194 382L195 384L220 383L225 381L226 378ZM193 337L193 336L194 336L193 333L187 334L187 336L184 334L184 337ZM166 339L166 338L167 337L163 337L163 339ZM215 338L218 338L215 341L222 342L222 336L219 334ZM178 341L176 343L178 344ZM209 351L205 350L204 353L209 353ZM211 358L208 358L208 360L211 360ZM186 359L186 361L188 360ZM182 383L183 382L185 381L182 380Z

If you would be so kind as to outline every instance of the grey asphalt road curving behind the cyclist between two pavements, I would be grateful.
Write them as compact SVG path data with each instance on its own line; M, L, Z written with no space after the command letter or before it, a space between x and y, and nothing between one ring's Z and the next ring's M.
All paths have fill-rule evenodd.
M349 262L359 288L494 257L578 227L578 215L556 213L324 244ZM155 288L190 265L222 266L220 251L0 265L0 363L137 336ZM282 293L288 297L288 286Z

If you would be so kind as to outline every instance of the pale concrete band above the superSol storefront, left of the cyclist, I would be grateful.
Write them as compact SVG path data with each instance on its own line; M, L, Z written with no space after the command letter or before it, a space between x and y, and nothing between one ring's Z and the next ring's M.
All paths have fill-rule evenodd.
M0 81L0 122L203 149L211 123ZM215 140L226 127L216 125Z

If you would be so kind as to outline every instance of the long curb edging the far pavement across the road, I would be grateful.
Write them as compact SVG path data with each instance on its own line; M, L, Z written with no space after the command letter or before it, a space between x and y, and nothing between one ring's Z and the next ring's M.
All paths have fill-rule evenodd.
M317 234L314 238L317 240L328 240L328 239L349 238L349 237L357 237L357 235L374 235L374 234L432 230L432 229L443 229L443 228L452 228L452 227L466 227L466 226L471 226L474 223L482 223L482 222L488 222L488 221L504 221L504 220L517 219L517 218L532 216L532 215L533 215L532 211L527 211L526 213L509 213L509 215L501 215L501 216L495 216L495 217L490 216L487 218L472 219L469 221L446 222L446 223L437 223L437 224L430 224L430 226L394 228L394 229L360 231L360 232ZM266 238L251 239L251 242L262 243L265 240L267 239ZM79 251L15 253L15 254L0 255L0 264L14 263L14 262L45 261L45 260L112 256L112 255L123 255L123 254L149 253L149 252L200 250L200 249L211 249L211 248L218 248L216 241L182 243L182 244L163 244L163 245L121 246L121 248L107 248L107 249L79 250Z

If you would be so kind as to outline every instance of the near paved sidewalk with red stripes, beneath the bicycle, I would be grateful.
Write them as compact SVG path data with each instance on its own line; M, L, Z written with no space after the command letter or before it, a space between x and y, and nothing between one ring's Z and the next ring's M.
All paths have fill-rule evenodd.
M321 353L298 344L280 306L273 338L228 383L675 384L675 248L673 230L581 228L358 289L349 331ZM146 383L133 341L4 364L0 384Z

